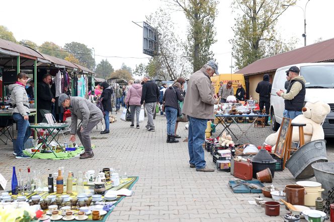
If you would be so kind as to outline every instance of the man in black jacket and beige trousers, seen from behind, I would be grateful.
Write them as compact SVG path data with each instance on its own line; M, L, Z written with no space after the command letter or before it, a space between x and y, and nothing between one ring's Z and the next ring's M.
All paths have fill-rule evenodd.
M150 80L148 75L144 76L144 84L141 94L140 104L145 101L145 109L147 113L147 125L146 130L154 132L155 127L153 123L153 109L155 110L156 102L159 101L160 91L158 86Z

